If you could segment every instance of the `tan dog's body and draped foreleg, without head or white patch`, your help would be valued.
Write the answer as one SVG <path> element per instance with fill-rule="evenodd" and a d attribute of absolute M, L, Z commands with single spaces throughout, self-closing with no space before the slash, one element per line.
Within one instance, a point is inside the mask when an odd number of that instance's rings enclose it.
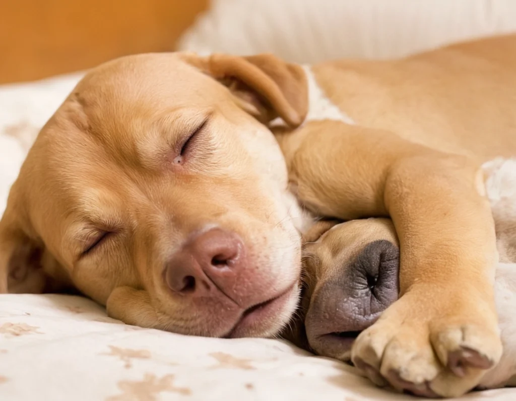
<path fill-rule="evenodd" d="M 402 296 L 352 349 L 375 382 L 457 396 L 484 371 L 472 366 L 458 378 L 441 367 L 449 355 L 475 349 L 491 364 L 501 356 L 496 237 L 478 176 L 482 162 L 516 154 L 514 54 L 509 36 L 315 66 L 356 125 L 314 121 L 279 133 L 289 181 L 310 210 L 394 222 Z"/>

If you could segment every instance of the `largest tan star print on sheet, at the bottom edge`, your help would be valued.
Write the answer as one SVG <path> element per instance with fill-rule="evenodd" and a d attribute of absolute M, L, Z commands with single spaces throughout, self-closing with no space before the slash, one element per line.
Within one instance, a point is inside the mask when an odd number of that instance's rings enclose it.
<path fill-rule="evenodd" d="M 158 378 L 156 375 L 146 373 L 141 381 L 123 380 L 118 382 L 121 394 L 106 398 L 106 401 L 156 401 L 157 396 L 163 392 L 190 395 L 191 390 L 184 387 L 176 387 L 173 384 L 174 375 L 165 375 Z"/>

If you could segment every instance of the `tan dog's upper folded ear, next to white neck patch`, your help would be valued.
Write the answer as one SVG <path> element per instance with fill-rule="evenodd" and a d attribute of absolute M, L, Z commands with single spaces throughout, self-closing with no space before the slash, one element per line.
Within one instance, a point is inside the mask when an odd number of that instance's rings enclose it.
<path fill-rule="evenodd" d="M 301 66 L 271 54 L 239 57 L 184 54 L 187 62 L 227 86 L 241 107 L 262 122 L 281 117 L 291 127 L 308 113 L 307 77 Z"/>

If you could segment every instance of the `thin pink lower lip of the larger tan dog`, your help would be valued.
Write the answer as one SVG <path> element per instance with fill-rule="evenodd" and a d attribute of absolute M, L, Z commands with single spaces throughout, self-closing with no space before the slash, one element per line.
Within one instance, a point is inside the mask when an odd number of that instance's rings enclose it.
<path fill-rule="evenodd" d="M 280 314 L 292 294 L 297 292 L 297 288 L 298 283 L 295 282 L 281 294 L 246 309 L 228 334 L 223 335 L 223 338 L 242 337 L 247 328 L 258 324 L 264 319 L 269 319 L 272 316 Z"/>

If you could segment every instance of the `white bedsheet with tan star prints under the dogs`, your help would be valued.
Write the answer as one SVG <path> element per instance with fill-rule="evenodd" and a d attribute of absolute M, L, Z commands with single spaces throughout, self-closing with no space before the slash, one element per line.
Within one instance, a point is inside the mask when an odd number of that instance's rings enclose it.
<path fill-rule="evenodd" d="M 30 141 L 79 75 L 0 88 L 0 212 Z M 286 342 L 220 340 L 124 325 L 94 302 L 0 295 L 0 400 L 412 399 Z M 461 399 L 516 399 L 516 389 Z"/>

